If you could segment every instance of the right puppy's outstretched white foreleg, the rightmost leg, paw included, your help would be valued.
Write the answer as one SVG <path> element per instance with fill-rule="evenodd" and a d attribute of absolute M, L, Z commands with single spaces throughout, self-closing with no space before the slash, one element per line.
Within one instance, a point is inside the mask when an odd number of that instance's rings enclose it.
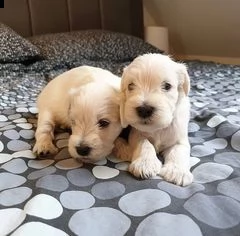
<path fill-rule="evenodd" d="M 165 163 L 160 175 L 176 185 L 186 186 L 192 183 L 193 175 L 190 172 L 190 145 L 176 144 L 163 153 Z"/>

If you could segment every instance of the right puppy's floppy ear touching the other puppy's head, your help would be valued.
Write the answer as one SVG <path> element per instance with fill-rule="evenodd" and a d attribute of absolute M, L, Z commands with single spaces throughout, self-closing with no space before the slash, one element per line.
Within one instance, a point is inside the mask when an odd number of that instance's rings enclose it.
<path fill-rule="evenodd" d="M 125 119 L 125 102 L 126 102 L 126 69 L 123 70 L 122 80 L 121 80 L 121 92 L 120 92 L 120 120 L 123 128 L 128 126 L 128 123 Z"/>

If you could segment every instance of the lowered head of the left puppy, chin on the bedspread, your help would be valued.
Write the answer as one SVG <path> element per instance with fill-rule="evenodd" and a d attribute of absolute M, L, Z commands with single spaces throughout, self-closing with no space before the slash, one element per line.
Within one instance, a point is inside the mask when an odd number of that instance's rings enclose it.
<path fill-rule="evenodd" d="M 71 92 L 69 117 L 71 156 L 83 162 L 102 159 L 111 153 L 122 129 L 119 90 L 103 81 L 81 86 Z"/>

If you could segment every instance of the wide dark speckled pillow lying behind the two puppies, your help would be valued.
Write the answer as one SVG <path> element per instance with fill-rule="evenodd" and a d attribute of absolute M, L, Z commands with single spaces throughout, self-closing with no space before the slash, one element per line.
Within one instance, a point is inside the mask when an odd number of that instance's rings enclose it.
<path fill-rule="evenodd" d="M 130 61 L 144 53 L 161 53 L 142 39 L 103 30 L 84 30 L 35 36 L 29 39 L 45 59 L 74 61 Z"/>

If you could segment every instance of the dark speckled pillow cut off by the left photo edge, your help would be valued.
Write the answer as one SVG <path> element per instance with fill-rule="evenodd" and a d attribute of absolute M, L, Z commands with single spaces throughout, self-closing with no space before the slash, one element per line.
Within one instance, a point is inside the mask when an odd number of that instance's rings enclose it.
<path fill-rule="evenodd" d="M 40 51 L 36 46 L 0 22 L 0 62 L 24 62 L 38 56 Z"/>

